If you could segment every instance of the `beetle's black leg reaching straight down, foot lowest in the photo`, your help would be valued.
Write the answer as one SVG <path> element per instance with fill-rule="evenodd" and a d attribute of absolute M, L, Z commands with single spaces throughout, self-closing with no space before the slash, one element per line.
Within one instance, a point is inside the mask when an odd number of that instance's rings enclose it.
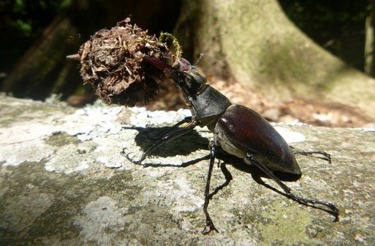
<path fill-rule="evenodd" d="M 210 196 L 210 182 L 211 182 L 211 174 L 212 169 L 214 168 L 214 162 L 215 162 L 215 155 L 217 151 L 217 146 L 215 144 L 215 141 L 210 141 L 210 165 L 208 168 L 208 174 L 207 174 L 207 180 L 206 180 L 206 187 L 204 189 L 204 205 L 203 205 L 203 212 L 206 215 L 206 224 L 202 231 L 202 234 L 208 234 L 211 231 L 219 232 L 218 229 L 216 229 L 214 222 L 212 222 L 212 219 L 210 215 L 208 214 L 207 208 L 208 204 L 210 203 L 210 199 L 212 196 Z"/>

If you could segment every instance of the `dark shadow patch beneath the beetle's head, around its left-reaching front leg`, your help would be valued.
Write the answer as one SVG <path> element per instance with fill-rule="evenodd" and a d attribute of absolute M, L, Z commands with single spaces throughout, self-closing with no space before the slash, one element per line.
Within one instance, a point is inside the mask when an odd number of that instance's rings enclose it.
<path fill-rule="evenodd" d="M 156 143 L 157 140 L 160 139 L 160 136 L 168 132 L 168 130 L 171 127 L 164 126 L 164 127 L 147 127 L 147 128 L 144 128 L 144 127 L 123 127 L 123 128 L 134 129 L 138 131 L 134 140 L 135 140 L 136 145 L 142 149 L 143 153 L 145 153 L 153 144 Z M 171 142 L 173 142 L 173 144 L 170 144 Z M 201 135 L 199 135 L 197 131 L 194 131 L 194 130 L 179 138 L 173 139 L 171 142 L 158 147 L 153 152 L 153 155 L 156 155 L 159 157 L 188 155 L 200 149 L 208 150 L 208 144 L 209 144 L 208 138 L 202 137 Z"/>

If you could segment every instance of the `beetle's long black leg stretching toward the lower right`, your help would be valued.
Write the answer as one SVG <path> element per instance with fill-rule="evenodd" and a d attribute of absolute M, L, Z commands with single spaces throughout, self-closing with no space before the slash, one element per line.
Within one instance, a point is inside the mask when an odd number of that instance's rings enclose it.
<path fill-rule="evenodd" d="M 291 189 L 286 186 L 285 184 L 283 184 L 279 178 L 276 177 L 276 175 L 271 171 L 269 170 L 266 166 L 264 166 L 260 161 L 258 161 L 253 154 L 249 154 L 247 153 L 246 154 L 246 158 L 248 160 L 250 160 L 252 163 L 254 163 L 260 170 L 262 170 L 268 177 L 270 177 L 271 179 L 273 179 L 283 190 L 284 192 L 286 193 L 286 195 L 297 201 L 298 203 L 301 203 L 301 204 L 304 204 L 304 205 L 307 205 L 307 204 L 320 204 L 320 205 L 323 205 L 323 206 L 326 206 L 327 208 L 330 209 L 330 213 L 332 215 L 335 216 L 335 219 L 334 221 L 338 221 L 339 220 L 339 210 L 336 208 L 335 205 L 333 205 L 332 203 L 329 203 L 329 202 L 323 202 L 323 201 L 317 201 L 317 200 L 311 200 L 311 199 L 306 199 L 306 198 L 302 198 L 302 197 L 299 197 L 299 196 L 296 196 L 295 194 L 293 194 L 291 192 Z"/>

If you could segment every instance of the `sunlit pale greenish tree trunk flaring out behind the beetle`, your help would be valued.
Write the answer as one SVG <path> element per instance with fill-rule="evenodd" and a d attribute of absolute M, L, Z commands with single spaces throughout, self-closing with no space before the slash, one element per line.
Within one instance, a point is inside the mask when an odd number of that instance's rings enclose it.
<path fill-rule="evenodd" d="M 192 57 L 205 54 L 205 73 L 265 101 L 298 99 L 374 121 L 375 81 L 316 45 L 276 0 L 186 0 L 181 12 L 176 35 Z"/>

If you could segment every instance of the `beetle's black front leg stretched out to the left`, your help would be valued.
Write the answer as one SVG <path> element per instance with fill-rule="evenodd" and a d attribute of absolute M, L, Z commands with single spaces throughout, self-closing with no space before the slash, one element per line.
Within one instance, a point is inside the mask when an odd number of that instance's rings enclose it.
<path fill-rule="evenodd" d="M 179 122 L 177 124 L 181 124 L 181 122 Z M 155 144 L 153 144 L 153 146 L 151 146 L 142 155 L 142 157 L 139 160 L 133 160 L 132 158 L 130 158 L 129 155 L 125 153 L 125 148 L 123 149 L 121 154 L 123 154 L 126 157 L 126 159 L 128 159 L 132 163 L 140 165 L 142 163 L 142 161 L 144 161 L 147 156 L 151 155 L 153 153 L 153 151 L 155 151 L 157 148 L 159 148 L 163 144 L 166 144 L 166 143 L 172 141 L 173 139 L 176 139 L 178 137 L 181 137 L 182 135 L 187 134 L 188 132 L 192 131 L 195 128 L 195 126 L 197 126 L 198 124 L 199 124 L 199 122 L 191 122 L 187 126 L 184 126 L 184 127 L 178 128 L 177 130 L 174 130 L 174 131 L 163 134 L 162 137 Z M 172 128 L 173 128 L 173 126 L 172 126 Z"/>

